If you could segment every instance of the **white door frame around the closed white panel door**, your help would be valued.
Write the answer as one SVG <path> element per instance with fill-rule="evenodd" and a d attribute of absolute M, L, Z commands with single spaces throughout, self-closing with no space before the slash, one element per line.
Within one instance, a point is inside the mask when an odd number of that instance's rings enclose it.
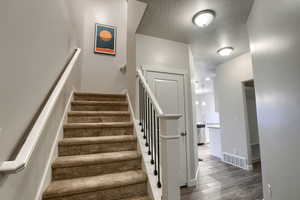
<path fill-rule="evenodd" d="M 189 123 L 192 119 L 190 116 L 190 109 L 189 109 L 189 98 L 188 98 L 188 84 L 189 84 L 189 73 L 188 70 L 185 69 L 174 69 L 171 67 L 162 67 L 162 66 L 149 66 L 149 65 L 142 65 L 141 70 L 143 73 L 146 72 L 159 72 L 159 73 L 166 73 L 166 74 L 177 74 L 177 75 L 183 75 L 183 88 L 184 88 L 184 110 L 185 110 L 185 131 L 188 133 L 186 135 L 185 140 L 185 146 L 186 146 L 186 185 L 194 185 L 195 178 L 192 178 L 190 176 L 191 174 L 191 152 L 189 146 L 193 146 L 193 144 L 190 144 L 190 139 L 193 138 L 193 129 L 191 124 Z M 145 75 L 145 74 L 144 74 Z M 190 133 L 190 134 L 189 134 Z"/>

